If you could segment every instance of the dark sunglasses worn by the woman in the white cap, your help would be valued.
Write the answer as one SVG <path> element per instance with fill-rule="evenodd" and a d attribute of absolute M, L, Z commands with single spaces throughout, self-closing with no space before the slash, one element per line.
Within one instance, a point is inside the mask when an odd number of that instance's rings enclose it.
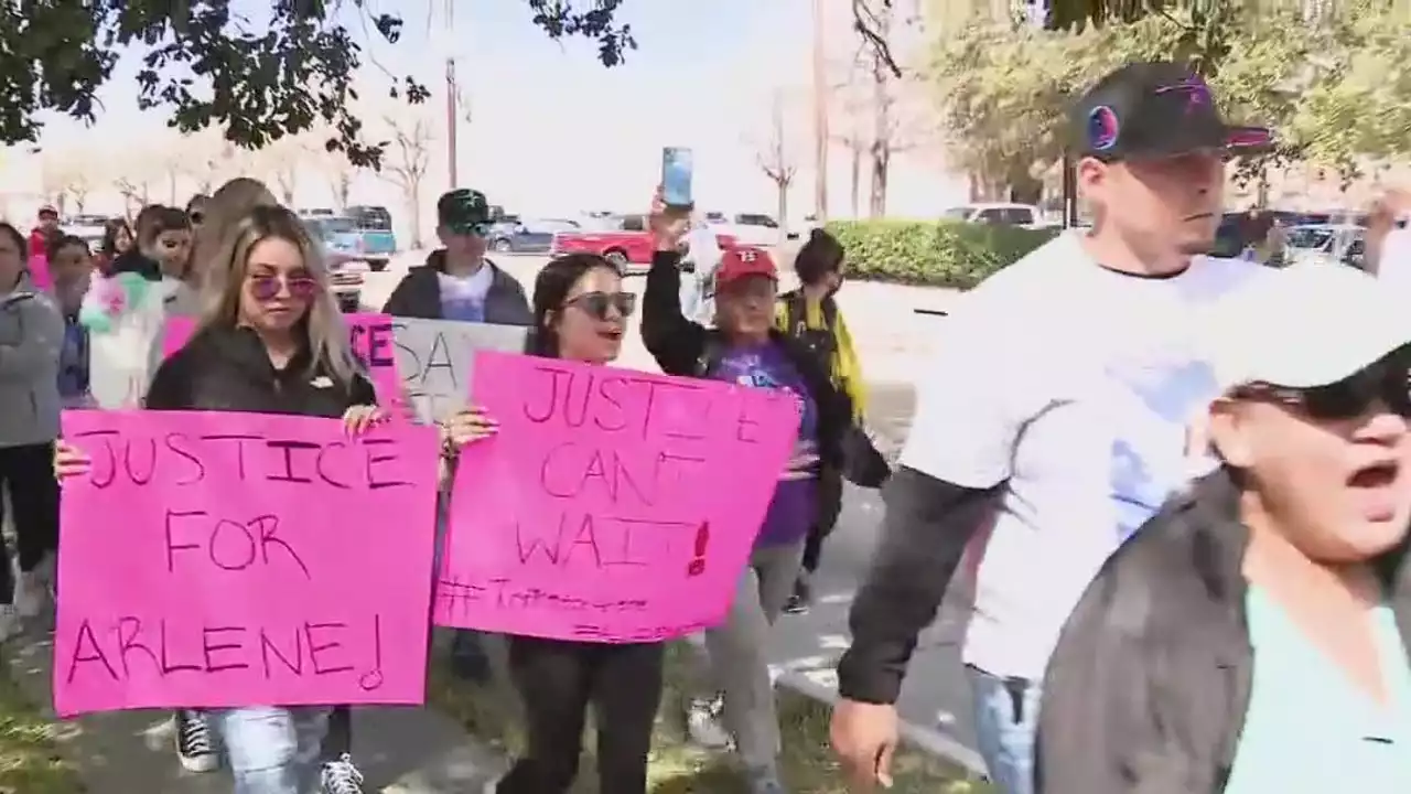
<path fill-rule="evenodd" d="M 1311 389 L 1256 383 L 1236 390 L 1236 397 L 1287 405 L 1315 421 L 1364 417 L 1379 403 L 1398 417 L 1411 418 L 1411 383 L 1404 356 L 1381 362 L 1350 376 Z"/>

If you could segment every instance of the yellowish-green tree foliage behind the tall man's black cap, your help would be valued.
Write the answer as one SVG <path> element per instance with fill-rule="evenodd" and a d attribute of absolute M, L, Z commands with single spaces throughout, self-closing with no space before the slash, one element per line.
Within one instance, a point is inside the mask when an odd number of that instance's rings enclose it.
<path fill-rule="evenodd" d="M 1054 0 L 1053 14 L 1065 30 L 975 20 L 933 45 L 957 165 L 1010 185 L 1006 175 L 1050 168 L 1072 95 L 1119 64 L 1173 58 L 1197 64 L 1232 120 L 1278 136 L 1240 164 L 1243 177 L 1307 160 L 1350 179 L 1369 160 L 1411 153 L 1411 18 L 1390 0 Z"/>

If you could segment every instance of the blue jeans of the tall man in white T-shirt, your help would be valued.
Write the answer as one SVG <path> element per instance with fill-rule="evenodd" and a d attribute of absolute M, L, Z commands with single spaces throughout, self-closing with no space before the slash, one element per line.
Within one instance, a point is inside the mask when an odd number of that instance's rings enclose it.
<path fill-rule="evenodd" d="M 1034 793 L 1038 684 L 967 667 L 975 699 L 975 733 L 989 780 L 1002 794 Z"/>

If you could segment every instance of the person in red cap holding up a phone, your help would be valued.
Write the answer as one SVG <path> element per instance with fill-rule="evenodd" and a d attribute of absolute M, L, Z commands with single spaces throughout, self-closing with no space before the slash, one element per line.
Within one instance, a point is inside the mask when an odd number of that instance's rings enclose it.
<path fill-rule="evenodd" d="M 721 698 L 698 699 L 693 736 L 718 742 L 717 715 L 734 736 L 751 794 L 783 794 L 779 715 L 765 658 L 769 629 L 799 576 L 809 528 L 825 499 L 820 473 L 842 465 L 842 435 L 852 424 L 848 397 L 801 342 L 775 325 L 779 274 L 768 251 L 732 247 L 715 271 L 715 328 L 682 314 L 680 242 L 687 219 L 660 192 L 652 208 L 656 253 L 646 274 L 642 340 L 662 372 L 793 391 L 803 405 L 794 458 L 779 485 L 725 622 L 706 632 L 711 678 Z"/>

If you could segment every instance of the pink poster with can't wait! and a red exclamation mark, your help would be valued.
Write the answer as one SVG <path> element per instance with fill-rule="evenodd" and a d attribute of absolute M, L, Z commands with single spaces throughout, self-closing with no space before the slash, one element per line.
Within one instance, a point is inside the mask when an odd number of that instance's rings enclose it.
<path fill-rule="evenodd" d="M 789 393 L 481 350 L 433 615 L 581 641 L 717 624 L 793 449 Z"/>

